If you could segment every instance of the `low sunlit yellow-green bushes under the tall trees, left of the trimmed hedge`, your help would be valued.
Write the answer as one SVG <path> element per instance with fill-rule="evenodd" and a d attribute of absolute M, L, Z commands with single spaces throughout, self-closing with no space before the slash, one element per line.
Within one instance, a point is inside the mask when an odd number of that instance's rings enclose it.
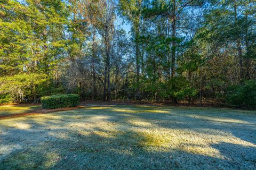
<path fill-rule="evenodd" d="M 46 74 L 30 73 L 0 77 L 0 104 L 38 103 L 40 97 L 65 93 Z"/>

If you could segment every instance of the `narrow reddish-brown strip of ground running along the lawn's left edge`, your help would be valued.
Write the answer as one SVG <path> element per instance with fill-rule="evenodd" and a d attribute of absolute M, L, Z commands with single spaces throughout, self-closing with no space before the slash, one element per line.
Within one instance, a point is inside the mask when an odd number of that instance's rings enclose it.
<path fill-rule="evenodd" d="M 46 114 L 46 113 L 52 113 L 52 112 L 60 112 L 60 111 L 70 111 L 77 108 L 83 108 L 85 106 L 76 106 L 76 107 L 67 107 L 67 108 L 55 108 L 55 109 L 35 109 L 33 111 L 28 111 L 25 113 L 18 113 L 18 114 L 12 114 L 12 115 L 3 115 L 0 116 L 0 120 L 6 119 L 6 118 L 12 118 L 12 117 L 21 117 L 21 116 L 30 116 L 30 115 L 38 115 L 38 114 Z"/>

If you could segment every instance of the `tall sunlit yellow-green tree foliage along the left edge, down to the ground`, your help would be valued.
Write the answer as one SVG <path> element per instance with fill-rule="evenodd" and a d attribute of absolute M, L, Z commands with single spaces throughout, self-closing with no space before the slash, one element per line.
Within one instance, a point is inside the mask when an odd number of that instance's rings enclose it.
<path fill-rule="evenodd" d="M 1 100 L 37 102 L 63 92 L 52 75 L 66 50 L 60 34 L 68 16 L 65 3 L 10 0 L 1 2 L 0 11 Z"/>

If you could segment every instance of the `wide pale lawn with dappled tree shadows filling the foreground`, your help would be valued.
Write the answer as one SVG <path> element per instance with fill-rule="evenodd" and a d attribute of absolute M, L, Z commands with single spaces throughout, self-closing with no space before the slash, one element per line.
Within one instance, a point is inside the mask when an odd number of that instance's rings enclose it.
<path fill-rule="evenodd" d="M 255 111 L 91 105 L 0 120 L 0 169 L 255 168 Z"/>

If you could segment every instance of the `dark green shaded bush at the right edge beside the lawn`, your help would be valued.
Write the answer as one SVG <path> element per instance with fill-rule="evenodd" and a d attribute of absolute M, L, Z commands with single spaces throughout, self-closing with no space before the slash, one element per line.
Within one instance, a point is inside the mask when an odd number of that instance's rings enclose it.
<path fill-rule="evenodd" d="M 235 107 L 256 107 L 256 81 L 245 81 L 242 85 L 229 86 L 227 103 Z"/>

